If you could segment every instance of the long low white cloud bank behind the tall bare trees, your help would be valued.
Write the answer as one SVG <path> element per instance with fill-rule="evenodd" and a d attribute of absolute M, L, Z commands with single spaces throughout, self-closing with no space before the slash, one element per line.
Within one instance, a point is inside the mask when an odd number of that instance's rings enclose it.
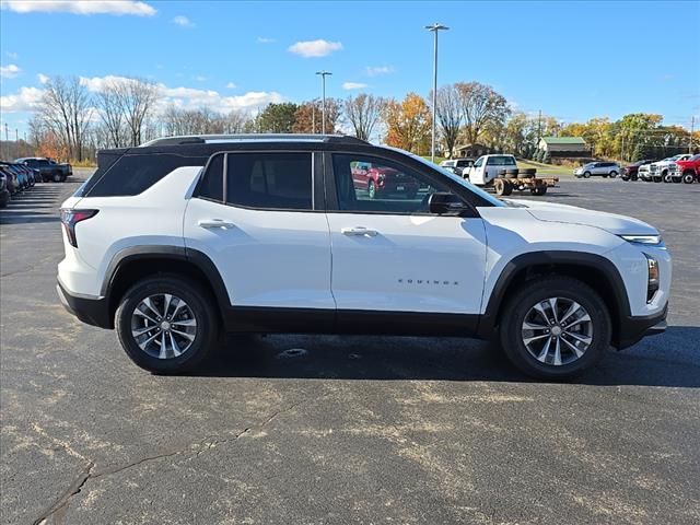
<path fill-rule="evenodd" d="M 92 92 L 104 90 L 114 81 L 125 80 L 125 77 L 81 77 L 80 82 Z M 243 95 L 224 96 L 213 90 L 199 90 L 196 88 L 170 88 L 163 83 L 155 84 L 159 90 L 158 106 L 164 108 L 174 105 L 182 109 L 199 109 L 208 107 L 213 110 L 228 113 L 232 109 L 250 112 L 269 103 L 280 103 L 284 97 L 277 92 L 249 91 Z"/>

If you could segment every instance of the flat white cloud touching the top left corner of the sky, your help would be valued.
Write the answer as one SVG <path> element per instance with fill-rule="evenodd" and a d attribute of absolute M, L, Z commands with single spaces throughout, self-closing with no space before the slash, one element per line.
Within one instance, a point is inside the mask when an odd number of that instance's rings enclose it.
<path fill-rule="evenodd" d="M 152 16 L 155 9 L 135 0 L 2 0 L 2 9 L 15 13 L 133 14 Z"/>

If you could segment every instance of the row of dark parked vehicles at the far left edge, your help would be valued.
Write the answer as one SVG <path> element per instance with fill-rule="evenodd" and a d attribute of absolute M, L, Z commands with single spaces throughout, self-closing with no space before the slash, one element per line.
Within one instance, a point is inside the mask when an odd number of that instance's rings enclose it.
<path fill-rule="evenodd" d="M 59 164 L 46 158 L 0 161 L 0 208 L 8 206 L 14 196 L 34 187 L 36 183 L 62 183 L 72 173 L 70 164 Z"/>

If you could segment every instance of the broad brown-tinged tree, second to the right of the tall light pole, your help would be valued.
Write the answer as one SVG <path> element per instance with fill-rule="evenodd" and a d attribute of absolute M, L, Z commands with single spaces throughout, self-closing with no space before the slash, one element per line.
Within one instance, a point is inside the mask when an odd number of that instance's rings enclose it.
<path fill-rule="evenodd" d="M 465 121 L 466 138 L 475 144 L 489 121 L 504 122 L 510 109 L 508 101 L 493 88 L 479 82 L 455 84 Z"/>

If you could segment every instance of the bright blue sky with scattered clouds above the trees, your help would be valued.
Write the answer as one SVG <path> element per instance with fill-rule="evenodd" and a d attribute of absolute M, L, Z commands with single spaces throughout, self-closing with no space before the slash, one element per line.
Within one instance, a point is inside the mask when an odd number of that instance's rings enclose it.
<path fill-rule="evenodd" d="M 328 96 L 425 95 L 423 26 L 441 22 L 451 30 L 440 35 L 440 84 L 488 83 L 517 109 L 564 121 L 649 112 L 689 126 L 691 115 L 700 124 L 698 20 L 697 1 L 2 0 L 0 121 L 22 133 L 40 75 L 54 74 L 92 90 L 108 75 L 144 77 L 171 102 L 223 110 L 319 96 L 319 69 L 334 73 Z"/>

